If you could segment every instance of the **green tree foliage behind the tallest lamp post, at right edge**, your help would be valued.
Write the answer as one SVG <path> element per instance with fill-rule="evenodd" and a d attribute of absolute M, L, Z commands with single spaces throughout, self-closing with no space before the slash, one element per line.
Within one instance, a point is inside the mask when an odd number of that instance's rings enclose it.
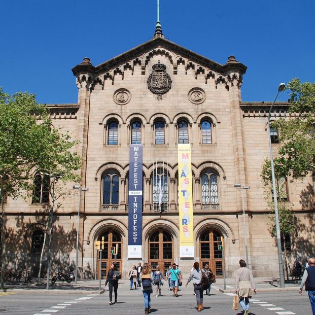
<path fill-rule="evenodd" d="M 315 171 L 315 82 L 301 83 L 294 78 L 288 83 L 290 119 L 272 122 L 279 133 L 278 156 L 274 158 L 276 178 L 293 180 Z M 270 161 L 265 161 L 262 177 L 270 183 Z"/>

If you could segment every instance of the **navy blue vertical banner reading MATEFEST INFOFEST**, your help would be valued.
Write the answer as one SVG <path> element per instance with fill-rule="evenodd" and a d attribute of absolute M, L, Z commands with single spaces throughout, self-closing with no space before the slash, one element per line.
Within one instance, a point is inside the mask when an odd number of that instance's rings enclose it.
<path fill-rule="evenodd" d="M 128 258 L 142 259 L 142 145 L 130 145 L 128 181 Z"/>

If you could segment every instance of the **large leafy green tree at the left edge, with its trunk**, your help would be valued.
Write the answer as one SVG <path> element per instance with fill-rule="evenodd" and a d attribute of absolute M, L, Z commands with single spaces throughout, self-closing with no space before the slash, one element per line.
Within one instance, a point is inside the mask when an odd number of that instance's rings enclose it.
<path fill-rule="evenodd" d="M 69 133 L 52 127 L 49 109 L 35 95 L 9 95 L 0 88 L 1 289 L 6 265 L 5 198 L 29 196 L 37 170 L 62 172 L 62 181 L 77 181 L 74 171 L 80 167 L 80 158 L 73 150 L 76 144 Z"/>

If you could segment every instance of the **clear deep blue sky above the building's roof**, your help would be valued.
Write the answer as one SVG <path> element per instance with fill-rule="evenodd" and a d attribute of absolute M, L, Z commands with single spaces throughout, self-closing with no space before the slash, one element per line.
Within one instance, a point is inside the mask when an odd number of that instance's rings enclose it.
<path fill-rule="evenodd" d="M 247 65 L 243 101 L 271 101 L 281 82 L 315 81 L 314 9 L 313 0 L 160 0 L 160 20 L 170 41 Z M 148 41 L 156 22 L 156 0 L 10 0 L 0 11 L 0 86 L 45 103 L 77 102 L 71 68 Z"/>

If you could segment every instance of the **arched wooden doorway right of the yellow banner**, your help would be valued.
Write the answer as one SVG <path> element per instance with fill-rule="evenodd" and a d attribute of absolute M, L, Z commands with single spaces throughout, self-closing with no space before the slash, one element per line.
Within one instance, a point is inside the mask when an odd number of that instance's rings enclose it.
<path fill-rule="evenodd" d="M 204 230 L 199 238 L 199 257 L 202 267 L 209 264 L 213 273 L 217 277 L 223 277 L 223 256 L 222 251 L 218 248 L 218 237 L 222 237 L 223 250 L 224 237 L 223 235 L 215 229 Z"/>

